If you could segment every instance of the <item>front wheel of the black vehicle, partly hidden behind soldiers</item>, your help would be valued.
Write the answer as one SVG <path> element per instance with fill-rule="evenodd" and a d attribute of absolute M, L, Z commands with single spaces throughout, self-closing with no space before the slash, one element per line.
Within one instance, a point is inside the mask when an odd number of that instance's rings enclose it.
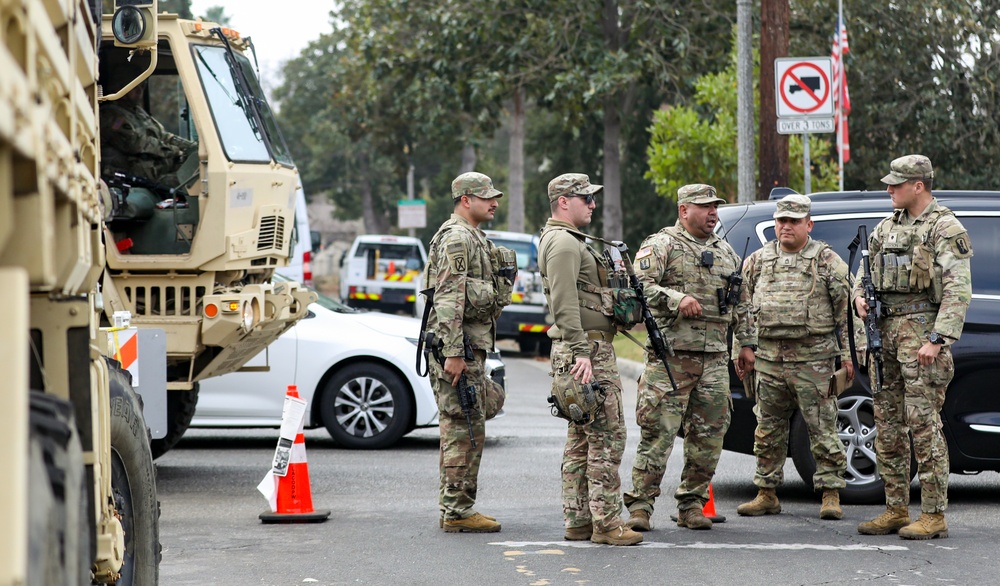
<path fill-rule="evenodd" d="M 868 395 L 842 395 L 837 399 L 837 436 L 847 452 L 847 487 L 841 500 L 854 504 L 885 502 L 885 484 L 875 460 L 875 409 Z M 809 449 L 809 432 L 801 413 L 791 425 L 792 462 L 805 483 L 812 487 L 816 460 Z M 911 467 L 911 472 L 915 470 Z"/>

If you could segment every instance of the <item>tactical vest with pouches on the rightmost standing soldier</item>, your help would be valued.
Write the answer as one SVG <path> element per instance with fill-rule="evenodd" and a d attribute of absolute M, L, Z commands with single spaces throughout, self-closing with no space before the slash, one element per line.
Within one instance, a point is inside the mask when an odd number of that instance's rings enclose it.
<path fill-rule="evenodd" d="M 941 303 L 943 275 L 941 267 L 933 265 L 930 289 L 917 291 L 910 289 L 910 271 L 913 270 L 913 249 L 924 244 L 934 250 L 932 242 L 934 229 L 941 217 L 955 214 L 944 206 L 927 215 L 925 221 L 916 224 L 902 224 L 900 218 L 906 210 L 893 212 L 891 220 L 881 222 L 876 230 L 882 243 L 882 249 L 872 259 L 872 281 L 879 293 L 924 293 L 931 303 Z"/>

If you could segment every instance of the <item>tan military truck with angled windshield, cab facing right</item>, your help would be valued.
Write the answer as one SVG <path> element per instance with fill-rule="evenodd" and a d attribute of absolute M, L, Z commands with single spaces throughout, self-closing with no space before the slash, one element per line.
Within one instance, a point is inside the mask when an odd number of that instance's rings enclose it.
<path fill-rule="evenodd" d="M 101 129 L 102 173 L 113 202 L 104 307 L 109 319 L 130 311 L 140 329 L 166 331 L 167 420 L 164 433 L 153 432 L 158 457 L 190 424 L 198 381 L 243 366 L 305 314 L 312 293 L 270 282 L 292 255 L 299 177 L 247 39 L 161 14 L 155 42 L 134 51 L 117 46 L 113 28 L 105 17 L 102 108 L 145 86 L 144 111 L 197 144 L 169 180 L 123 177 L 108 163 L 120 158 L 110 146 L 119 121 L 102 112 L 109 122 Z"/>

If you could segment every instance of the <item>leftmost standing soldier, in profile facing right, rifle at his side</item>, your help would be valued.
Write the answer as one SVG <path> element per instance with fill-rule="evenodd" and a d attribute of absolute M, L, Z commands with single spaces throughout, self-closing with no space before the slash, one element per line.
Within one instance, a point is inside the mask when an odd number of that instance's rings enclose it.
<path fill-rule="evenodd" d="M 437 398 L 441 433 L 441 527 L 445 532 L 500 531 L 495 518 L 473 510 L 476 504 L 479 462 L 486 440 L 486 389 L 493 385 L 485 374 L 486 354 L 496 341 L 496 318 L 510 303 L 510 283 L 499 276 L 499 251 L 479 224 L 493 219 L 503 193 L 482 173 L 463 173 L 451 184 L 455 211 L 431 239 L 424 284 L 434 289 L 427 329 L 438 345 L 433 348 L 444 364 L 429 360 L 429 375 Z M 474 357 L 465 359 L 464 340 Z M 465 373 L 477 391 L 472 412 L 475 447 L 462 413 L 456 387 Z"/>

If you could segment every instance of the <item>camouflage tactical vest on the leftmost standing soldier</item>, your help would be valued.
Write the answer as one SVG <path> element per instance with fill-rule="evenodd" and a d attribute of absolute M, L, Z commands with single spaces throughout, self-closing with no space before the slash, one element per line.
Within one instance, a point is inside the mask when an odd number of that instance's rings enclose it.
<path fill-rule="evenodd" d="M 424 287 L 437 289 L 438 263 L 448 262 L 447 253 L 441 250 L 441 241 L 452 230 L 465 230 L 470 232 L 473 240 L 478 242 L 478 234 L 471 232 L 468 227 L 458 222 L 446 222 L 438 230 L 434 238 L 431 239 L 430 249 L 433 254 L 433 261 L 427 263 L 424 274 Z M 466 320 L 489 323 L 500 316 L 500 311 L 510 304 L 510 294 L 512 285 L 506 278 L 497 274 L 500 263 L 498 251 L 495 246 L 473 245 L 469 247 L 468 267 L 465 279 L 465 308 L 464 317 Z M 436 322 L 436 320 L 434 320 Z"/>

